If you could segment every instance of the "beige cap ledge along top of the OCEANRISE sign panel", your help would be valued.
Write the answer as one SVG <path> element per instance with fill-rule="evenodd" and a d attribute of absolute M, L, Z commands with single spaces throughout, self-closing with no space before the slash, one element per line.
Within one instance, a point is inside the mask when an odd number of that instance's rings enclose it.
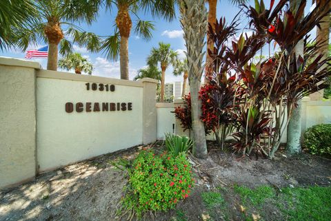
<path fill-rule="evenodd" d="M 39 72 L 37 72 L 37 77 L 53 78 L 53 79 L 69 80 L 69 81 L 84 81 L 84 82 L 92 82 L 92 83 L 110 83 L 114 85 L 124 85 L 124 86 L 132 86 L 132 87 L 143 87 L 143 83 L 139 81 L 121 80 L 117 78 L 106 78 L 103 76 L 92 76 L 86 74 L 74 74 L 70 72 L 56 72 L 51 70 L 39 70 Z"/>

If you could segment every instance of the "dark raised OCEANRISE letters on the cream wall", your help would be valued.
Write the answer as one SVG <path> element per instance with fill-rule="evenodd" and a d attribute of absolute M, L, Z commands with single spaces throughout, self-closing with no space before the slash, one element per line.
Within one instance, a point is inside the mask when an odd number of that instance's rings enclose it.
<path fill-rule="evenodd" d="M 132 103 L 66 103 L 66 112 L 118 112 L 131 111 Z"/>

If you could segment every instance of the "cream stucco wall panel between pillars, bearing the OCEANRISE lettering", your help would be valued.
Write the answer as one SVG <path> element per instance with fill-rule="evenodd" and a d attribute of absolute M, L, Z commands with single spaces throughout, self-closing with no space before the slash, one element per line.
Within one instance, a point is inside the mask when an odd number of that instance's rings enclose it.
<path fill-rule="evenodd" d="M 70 78 L 79 78 L 79 81 Z M 40 171 L 143 143 L 143 85 L 97 76 L 43 70 L 37 75 L 37 151 Z M 81 81 L 83 79 L 83 81 Z M 114 92 L 86 90 L 86 83 L 114 84 Z M 121 83 L 121 84 L 120 84 Z M 135 83 L 135 84 L 132 84 Z M 65 111 L 71 103 L 132 103 L 132 110 Z M 155 139 L 155 138 L 154 138 Z"/>

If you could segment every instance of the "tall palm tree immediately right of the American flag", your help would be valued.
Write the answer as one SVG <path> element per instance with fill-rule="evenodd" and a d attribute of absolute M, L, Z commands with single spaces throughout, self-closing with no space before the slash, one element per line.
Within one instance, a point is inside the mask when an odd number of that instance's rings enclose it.
<path fill-rule="evenodd" d="M 18 32 L 19 48 L 26 50 L 29 44 L 37 44 L 39 41 L 48 43 L 48 70 L 57 70 L 58 45 L 60 44 L 60 54 L 72 52 L 72 43 L 65 39 L 65 34 L 61 25 L 69 25 L 66 32 L 72 35 L 74 41 L 79 41 L 80 45 L 92 52 L 100 48 L 99 37 L 93 33 L 83 32 L 70 22 L 84 21 L 92 23 L 97 15 L 99 3 L 97 1 L 83 0 L 36 0 L 35 7 L 38 10 L 38 21 L 32 23 L 30 30 Z"/>

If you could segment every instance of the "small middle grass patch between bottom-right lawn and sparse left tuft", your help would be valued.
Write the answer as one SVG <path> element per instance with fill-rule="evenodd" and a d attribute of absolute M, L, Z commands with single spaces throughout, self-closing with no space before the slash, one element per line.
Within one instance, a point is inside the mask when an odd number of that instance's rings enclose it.
<path fill-rule="evenodd" d="M 257 189 L 250 189 L 248 187 L 234 185 L 234 191 L 241 196 L 243 204 L 248 204 L 248 200 L 252 202 L 254 206 L 261 206 L 266 199 L 273 198 L 276 193 L 272 187 L 261 186 Z"/>

